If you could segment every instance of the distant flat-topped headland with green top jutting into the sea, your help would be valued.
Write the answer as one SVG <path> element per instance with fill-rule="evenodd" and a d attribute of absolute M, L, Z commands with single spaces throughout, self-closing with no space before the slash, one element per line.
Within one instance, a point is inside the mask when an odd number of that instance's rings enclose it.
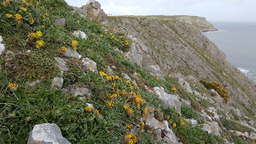
<path fill-rule="evenodd" d="M 164 16 L 164 15 L 153 15 L 153 16 L 121 16 L 121 17 L 133 17 L 133 18 L 149 18 L 153 20 L 172 20 L 172 21 L 183 21 L 191 26 L 194 26 L 200 32 L 204 31 L 216 31 L 217 28 L 206 20 L 205 17 L 198 16 L 187 16 L 187 15 L 174 15 L 174 16 Z"/>

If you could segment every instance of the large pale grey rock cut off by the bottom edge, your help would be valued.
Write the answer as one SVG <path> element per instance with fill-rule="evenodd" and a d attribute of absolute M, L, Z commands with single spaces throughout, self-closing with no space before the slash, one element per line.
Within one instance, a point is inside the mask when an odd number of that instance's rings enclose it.
<path fill-rule="evenodd" d="M 56 124 L 44 123 L 36 124 L 30 132 L 27 144 L 71 144 L 61 134 L 60 128 Z"/>

